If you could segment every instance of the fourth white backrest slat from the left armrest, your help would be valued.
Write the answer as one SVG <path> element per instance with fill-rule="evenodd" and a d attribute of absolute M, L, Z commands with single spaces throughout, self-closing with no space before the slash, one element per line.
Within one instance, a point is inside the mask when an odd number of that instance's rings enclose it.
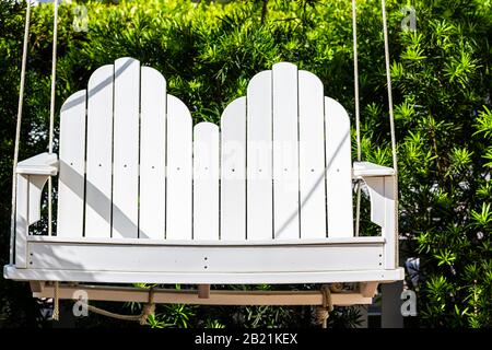
<path fill-rule="evenodd" d="M 141 69 L 139 237 L 165 236 L 166 81 Z"/>

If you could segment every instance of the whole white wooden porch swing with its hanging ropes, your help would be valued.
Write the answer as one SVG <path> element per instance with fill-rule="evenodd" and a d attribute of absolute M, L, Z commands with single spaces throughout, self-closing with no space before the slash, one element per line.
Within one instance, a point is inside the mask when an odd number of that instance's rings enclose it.
<path fill-rule="evenodd" d="M 132 58 L 93 72 L 60 112 L 52 153 L 58 3 L 55 1 L 49 153 L 17 164 L 31 4 L 14 154 L 11 261 L 4 277 L 31 281 L 34 296 L 149 302 L 148 290 L 80 283 L 186 283 L 199 292 L 153 289 L 151 303 L 371 303 L 398 267 L 397 159 L 385 1 L 383 28 L 394 167 L 361 162 L 356 16 L 353 4 L 358 162 L 350 120 L 320 80 L 289 62 L 253 77 L 220 127 L 192 126 L 156 70 Z M 289 156 L 285 156 L 285 155 Z M 285 161 L 288 159 L 288 161 Z M 30 235 L 40 198 L 58 175 L 57 232 Z M 371 196 L 380 236 L 353 230 L 352 180 Z M 340 291 L 335 283 L 359 283 Z M 323 292 L 210 291 L 210 284 L 327 283 Z M 325 319 L 326 324 L 326 319 Z"/>

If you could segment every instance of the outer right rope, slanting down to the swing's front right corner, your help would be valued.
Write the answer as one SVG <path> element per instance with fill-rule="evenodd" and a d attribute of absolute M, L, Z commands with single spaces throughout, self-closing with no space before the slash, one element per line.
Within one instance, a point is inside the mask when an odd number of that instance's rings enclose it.
<path fill-rule="evenodd" d="M 386 23 L 386 1 L 382 0 L 383 11 L 383 33 L 385 36 L 385 61 L 386 61 L 386 80 L 388 85 L 388 108 L 389 108 L 389 128 L 391 133 L 391 153 L 393 153 L 393 168 L 395 170 L 395 180 L 393 187 L 393 195 L 395 199 L 395 234 L 396 234 L 396 249 L 398 254 L 398 155 L 396 145 L 396 132 L 395 132 L 395 114 L 393 110 L 393 88 L 391 88 L 391 67 L 389 65 L 389 40 L 388 40 L 388 26 Z M 398 262 L 398 255 L 396 257 Z"/>

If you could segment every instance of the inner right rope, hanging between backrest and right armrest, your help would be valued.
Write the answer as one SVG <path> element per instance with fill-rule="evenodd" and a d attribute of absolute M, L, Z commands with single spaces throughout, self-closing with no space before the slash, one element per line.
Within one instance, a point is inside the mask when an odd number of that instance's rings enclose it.
<path fill-rule="evenodd" d="M 353 88 L 355 100 L 355 137 L 358 144 L 358 162 L 362 160 L 361 151 L 361 108 L 359 101 L 359 52 L 358 52 L 358 10 L 356 0 L 352 0 L 352 33 L 353 33 Z M 359 236 L 361 222 L 361 183 L 356 183 L 358 197 L 355 206 L 355 236 Z"/>

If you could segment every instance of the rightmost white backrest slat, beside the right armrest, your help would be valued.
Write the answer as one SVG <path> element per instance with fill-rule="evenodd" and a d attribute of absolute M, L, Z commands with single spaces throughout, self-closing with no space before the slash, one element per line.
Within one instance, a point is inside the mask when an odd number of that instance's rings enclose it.
<path fill-rule="evenodd" d="M 350 119 L 337 101 L 325 97 L 328 236 L 352 237 Z"/>

